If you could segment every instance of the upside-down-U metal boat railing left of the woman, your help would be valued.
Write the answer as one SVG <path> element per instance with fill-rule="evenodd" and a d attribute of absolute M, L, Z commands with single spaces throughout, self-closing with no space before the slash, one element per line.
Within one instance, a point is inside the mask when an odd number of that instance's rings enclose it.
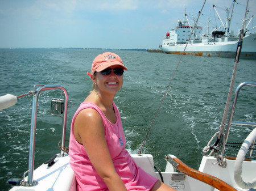
<path fill-rule="evenodd" d="M 36 89 L 36 87 L 38 87 Z M 30 129 L 30 151 L 29 151 L 29 158 L 28 158 L 28 171 L 25 173 L 28 173 L 28 179 L 27 182 L 23 182 L 25 186 L 34 186 L 38 184 L 37 182 L 33 181 L 33 174 L 34 174 L 34 159 L 35 159 L 35 132 L 36 132 L 36 113 L 38 110 L 38 97 L 40 92 L 46 91 L 46 90 L 61 90 L 62 93 L 64 93 L 64 100 L 62 101 L 63 107 L 61 108 L 61 114 L 62 114 L 62 125 L 63 125 L 63 131 L 62 131 L 62 137 L 61 137 L 61 148 L 65 148 L 65 133 L 66 133 L 66 121 L 67 121 L 67 111 L 68 111 L 68 92 L 65 90 L 65 88 L 61 85 L 48 85 L 48 86 L 42 86 L 42 85 L 35 85 L 34 86 L 34 92 L 33 92 L 33 103 L 32 103 L 32 115 L 31 115 L 31 129 Z M 61 95 L 62 96 L 62 95 Z M 60 100 L 60 99 L 59 99 Z M 57 104 L 57 102 L 56 102 Z M 57 107 L 56 107 L 57 109 Z M 64 156 L 64 151 L 60 151 L 60 156 Z M 23 180 L 24 181 L 24 180 Z"/>

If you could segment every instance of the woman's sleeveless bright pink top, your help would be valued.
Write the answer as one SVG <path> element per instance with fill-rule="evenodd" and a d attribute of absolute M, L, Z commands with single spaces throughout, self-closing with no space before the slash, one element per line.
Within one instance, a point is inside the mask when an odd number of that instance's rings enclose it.
<path fill-rule="evenodd" d="M 77 109 L 71 124 L 71 134 L 69 138 L 70 165 L 75 172 L 77 190 L 100 191 L 108 190 L 105 182 L 98 175 L 96 169 L 85 152 L 84 146 L 78 143 L 73 134 L 73 125 L 77 114 L 85 108 L 95 109 L 101 116 L 105 129 L 105 138 L 108 144 L 110 155 L 114 163 L 115 171 L 121 177 L 127 190 L 150 190 L 158 180 L 148 175 L 131 159 L 129 152 L 126 151 L 126 138 L 123 134 L 122 121 L 115 103 L 113 108 L 117 121 L 115 124 L 110 122 L 101 109 L 93 104 L 84 102 Z M 104 165 L 104 164 L 102 164 Z"/>

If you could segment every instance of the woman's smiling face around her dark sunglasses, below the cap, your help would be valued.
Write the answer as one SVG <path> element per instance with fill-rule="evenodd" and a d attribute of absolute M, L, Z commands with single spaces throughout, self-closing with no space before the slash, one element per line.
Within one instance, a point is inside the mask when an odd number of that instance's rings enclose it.
<path fill-rule="evenodd" d="M 108 69 L 112 69 L 110 74 L 104 75 L 100 72 L 97 72 L 96 75 L 93 75 L 93 82 L 96 82 L 96 90 L 104 92 L 112 92 L 115 94 L 118 92 L 123 85 L 123 75 L 117 75 L 114 73 L 113 69 L 117 69 L 118 66 L 110 66 Z M 120 67 L 119 67 L 120 68 Z"/>

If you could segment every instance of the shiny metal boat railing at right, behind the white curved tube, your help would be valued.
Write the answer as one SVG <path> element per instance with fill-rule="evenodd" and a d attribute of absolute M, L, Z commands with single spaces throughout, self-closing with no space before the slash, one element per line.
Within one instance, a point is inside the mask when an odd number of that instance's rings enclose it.
<path fill-rule="evenodd" d="M 245 126 L 254 126 L 254 127 L 256 127 L 256 123 L 255 122 L 232 121 L 233 120 L 233 116 L 234 116 L 234 112 L 235 112 L 235 109 L 236 109 L 238 94 L 239 94 L 239 92 L 240 92 L 240 90 L 241 90 L 241 88 L 243 86 L 254 86 L 254 87 L 256 87 L 256 83 L 253 83 L 253 82 L 243 82 L 236 89 L 236 93 L 234 95 L 234 101 L 233 101 L 233 105 L 232 105 L 232 109 L 231 109 L 231 113 L 230 113 L 230 117 L 229 117 L 229 122 L 228 122 L 228 126 L 227 126 L 226 133 L 225 133 L 225 144 L 223 145 L 222 153 L 224 153 L 225 145 L 226 145 L 226 143 L 228 141 L 228 136 L 229 136 L 229 131 L 230 131 L 231 125 L 245 125 Z M 249 151 L 249 155 L 248 155 L 249 159 L 251 158 L 251 155 L 253 153 L 253 149 L 252 149 L 253 147 L 254 147 L 254 143 L 251 144 L 251 147 L 250 147 L 250 151 Z"/>

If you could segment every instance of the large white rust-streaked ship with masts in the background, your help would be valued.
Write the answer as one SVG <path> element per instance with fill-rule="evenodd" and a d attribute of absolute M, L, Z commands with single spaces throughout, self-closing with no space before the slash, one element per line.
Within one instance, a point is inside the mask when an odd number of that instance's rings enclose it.
<path fill-rule="evenodd" d="M 233 13 L 234 3 L 235 1 L 233 1 L 230 9 L 225 9 L 228 15 L 228 18 L 225 19 L 226 24 L 223 24 L 220 19 L 223 29 L 221 30 L 221 27 L 218 27 L 209 32 L 210 19 L 208 19 L 206 33 L 203 33 L 201 26 L 191 26 L 189 24 L 184 10 L 183 22 L 178 20 L 177 26 L 166 33 L 162 45 L 159 46 L 160 49 L 168 54 L 234 58 L 239 41 L 239 34 L 234 35 L 234 32 L 230 30 L 230 23 L 232 21 L 232 14 L 230 12 Z M 217 12 L 214 5 L 213 8 Z M 251 19 L 246 19 L 248 22 L 245 26 L 249 26 L 252 19 L 253 16 Z M 240 58 L 256 60 L 256 32 L 250 32 L 251 29 L 245 28 Z M 191 36 L 190 39 L 189 36 Z M 185 48 L 186 45 L 187 47 Z"/>

